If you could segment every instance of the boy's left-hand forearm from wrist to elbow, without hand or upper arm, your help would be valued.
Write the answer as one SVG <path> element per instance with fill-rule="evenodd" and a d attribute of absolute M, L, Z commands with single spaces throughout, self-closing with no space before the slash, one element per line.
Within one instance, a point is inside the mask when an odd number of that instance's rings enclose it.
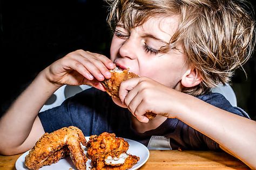
<path fill-rule="evenodd" d="M 57 88 L 43 72 L 36 77 L 0 119 L 0 149 L 19 146 L 28 138 L 39 110 Z"/>

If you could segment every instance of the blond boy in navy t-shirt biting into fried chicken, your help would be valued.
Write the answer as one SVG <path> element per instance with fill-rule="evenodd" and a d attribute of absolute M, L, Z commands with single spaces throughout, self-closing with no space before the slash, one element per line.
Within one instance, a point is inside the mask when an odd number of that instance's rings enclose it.
<path fill-rule="evenodd" d="M 74 125 L 85 136 L 114 132 L 147 146 L 164 136 L 173 150 L 221 147 L 247 162 L 237 147 L 245 139 L 231 140 L 241 126 L 232 131 L 229 119 L 248 115 L 210 90 L 250 58 L 252 17 L 235 1 L 108 2 L 111 59 L 78 50 L 42 70 L 1 118 L 1 153 L 24 152 L 44 132 Z M 116 104 L 101 84 L 115 65 L 139 75 L 121 84 Z M 38 114 L 63 84 L 93 88 Z M 157 116 L 149 121 L 146 112 Z"/>

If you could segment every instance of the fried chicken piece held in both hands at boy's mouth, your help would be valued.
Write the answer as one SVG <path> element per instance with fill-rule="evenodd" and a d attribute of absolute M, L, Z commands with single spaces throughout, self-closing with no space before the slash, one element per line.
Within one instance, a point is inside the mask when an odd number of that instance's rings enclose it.
<path fill-rule="evenodd" d="M 122 81 L 131 79 L 133 77 L 139 77 L 137 74 L 129 72 L 129 69 L 120 70 L 118 67 L 110 70 L 111 78 L 102 81 L 103 86 L 106 88 L 107 94 L 111 97 L 119 98 L 119 87 Z M 150 120 L 156 117 L 153 112 L 146 112 L 145 116 Z"/>

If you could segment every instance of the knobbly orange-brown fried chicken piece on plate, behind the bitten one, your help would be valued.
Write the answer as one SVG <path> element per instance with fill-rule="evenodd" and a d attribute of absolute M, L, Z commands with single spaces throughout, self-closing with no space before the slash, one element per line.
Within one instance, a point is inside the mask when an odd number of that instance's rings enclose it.
<path fill-rule="evenodd" d="M 109 153 L 113 150 L 116 152 L 126 152 L 129 148 L 129 143 L 123 138 L 116 137 L 114 133 L 103 132 L 97 135 L 92 135 L 86 143 L 87 157 L 92 158 L 94 154 Z"/>

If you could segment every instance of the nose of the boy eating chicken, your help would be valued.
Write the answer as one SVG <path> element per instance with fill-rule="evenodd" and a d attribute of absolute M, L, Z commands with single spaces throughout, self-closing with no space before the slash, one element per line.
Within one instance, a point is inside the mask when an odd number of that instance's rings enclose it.
<path fill-rule="evenodd" d="M 136 51 L 137 51 L 138 45 L 135 40 L 132 39 L 126 39 L 122 46 L 119 48 L 119 54 L 122 57 L 130 58 L 131 60 L 134 60 L 137 58 Z"/>

